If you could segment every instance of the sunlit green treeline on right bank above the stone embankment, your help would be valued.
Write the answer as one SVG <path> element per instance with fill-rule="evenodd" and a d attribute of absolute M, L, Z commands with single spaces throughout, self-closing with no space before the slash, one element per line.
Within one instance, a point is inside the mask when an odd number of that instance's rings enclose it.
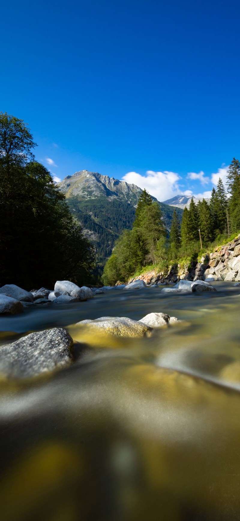
<path fill-rule="evenodd" d="M 102 281 L 114 284 L 127 281 L 146 264 L 157 264 L 159 270 L 179 259 L 197 255 L 211 243 L 224 240 L 240 230 L 240 163 L 233 158 L 229 166 L 228 196 L 221 179 L 212 189 L 210 203 L 205 199 L 197 204 L 192 198 L 189 209 L 184 208 L 180 225 L 176 209 L 172 216 L 170 237 L 166 239 L 161 211 L 156 210 L 151 196 L 144 190 L 132 230 L 125 230 L 117 240 L 113 254 L 105 265 Z"/>

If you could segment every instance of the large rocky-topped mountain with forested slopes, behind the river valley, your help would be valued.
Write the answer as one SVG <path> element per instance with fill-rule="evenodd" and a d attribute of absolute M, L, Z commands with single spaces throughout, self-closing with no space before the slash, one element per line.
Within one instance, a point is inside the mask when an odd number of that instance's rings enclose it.
<path fill-rule="evenodd" d="M 65 194 L 71 212 L 81 222 L 85 235 L 95 242 L 97 262 L 103 265 L 111 255 L 119 234 L 132 227 L 141 188 L 88 170 L 66 176 L 58 183 L 58 188 Z M 155 197 L 153 200 L 157 201 Z M 174 208 L 159 201 L 158 204 L 169 230 Z M 181 220 L 182 210 L 177 211 Z"/>

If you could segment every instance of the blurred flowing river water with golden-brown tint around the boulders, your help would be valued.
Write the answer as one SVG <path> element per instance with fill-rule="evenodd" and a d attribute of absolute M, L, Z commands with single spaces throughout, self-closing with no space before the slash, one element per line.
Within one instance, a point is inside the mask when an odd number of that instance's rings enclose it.
<path fill-rule="evenodd" d="M 2 343 L 55 326 L 76 341 L 70 368 L 0 382 L 3 521 L 240 519 L 240 287 L 215 286 L 0 318 Z M 141 339 L 75 326 L 151 312 L 182 322 Z"/>

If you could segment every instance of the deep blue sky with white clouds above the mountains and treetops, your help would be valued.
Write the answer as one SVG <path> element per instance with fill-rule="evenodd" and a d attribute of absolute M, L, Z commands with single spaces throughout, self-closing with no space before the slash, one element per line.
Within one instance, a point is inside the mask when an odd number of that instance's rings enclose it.
<path fill-rule="evenodd" d="M 238 0 L 4 3 L 0 108 L 60 179 L 207 194 L 240 158 L 239 16 Z"/>

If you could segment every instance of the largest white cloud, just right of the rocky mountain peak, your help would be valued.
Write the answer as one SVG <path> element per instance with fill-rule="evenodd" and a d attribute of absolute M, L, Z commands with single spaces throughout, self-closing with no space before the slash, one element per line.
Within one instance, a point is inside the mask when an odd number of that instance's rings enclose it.
<path fill-rule="evenodd" d="M 138 187 L 148 190 L 158 201 L 165 201 L 181 193 L 178 181 L 181 179 L 178 173 L 153 172 L 148 170 L 145 176 L 137 172 L 128 172 L 122 180 L 127 183 L 137 184 Z"/>

